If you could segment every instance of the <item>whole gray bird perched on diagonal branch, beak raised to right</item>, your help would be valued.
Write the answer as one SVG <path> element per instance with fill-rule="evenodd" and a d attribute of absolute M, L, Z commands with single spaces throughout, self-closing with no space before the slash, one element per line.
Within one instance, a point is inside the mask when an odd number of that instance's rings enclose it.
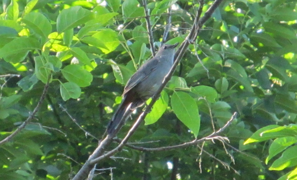
<path fill-rule="evenodd" d="M 121 120 L 126 121 L 134 109 L 142 106 L 156 93 L 173 65 L 174 48 L 177 45 L 165 44 L 160 47 L 156 55 L 147 60 L 128 80 L 122 102 L 108 124 L 108 134 L 118 131 Z"/>

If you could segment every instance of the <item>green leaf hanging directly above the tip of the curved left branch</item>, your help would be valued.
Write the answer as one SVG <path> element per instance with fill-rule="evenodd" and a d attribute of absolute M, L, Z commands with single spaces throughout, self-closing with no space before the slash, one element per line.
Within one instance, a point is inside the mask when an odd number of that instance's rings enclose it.
<path fill-rule="evenodd" d="M 34 57 L 34 61 L 36 77 L 43 83 L 47 83 L 48 77 L 51 75 L 51 71 L 53 71 L 53 64 L 46 62 L 41 56 Z"/>

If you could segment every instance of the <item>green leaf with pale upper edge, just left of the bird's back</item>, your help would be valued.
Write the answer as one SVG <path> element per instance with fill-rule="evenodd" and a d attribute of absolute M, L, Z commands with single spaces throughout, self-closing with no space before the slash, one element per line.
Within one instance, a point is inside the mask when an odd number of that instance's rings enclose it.
<path fill-rule="evenodd" d="M 127 67 L 116 64 L 113 60 L 108 61 L 113 69 L 113 74 L 121 84 L 126 84 L 133 72 Z"/>

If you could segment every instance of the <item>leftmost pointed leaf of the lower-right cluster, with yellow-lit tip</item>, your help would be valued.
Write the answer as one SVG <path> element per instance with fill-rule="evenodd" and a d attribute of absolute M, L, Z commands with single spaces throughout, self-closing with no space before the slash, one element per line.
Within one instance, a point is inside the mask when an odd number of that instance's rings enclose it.
<path fill-rule="evenodd" d="M 273 138 L 279 138 L 278 136 L 275 137 L 275 136 L 270 136 L 271 134 L 263 134 L 264 131 L 266 130 L 271 130 L 271 129 L 274 129 L 274 128 L 278 128 L 280 127 L 279 125 L 268 125 L 268 126 L 265 126 L 264 128 L 261 128 L 259 130 L 257 130 L 250 138 L 248 138 L 244 144 L 249 144 L 249 143 L 252 143 L 252 142 L 260 142 L 260 141 L 266 141 L 268 139 L 273 139 Z"/>

